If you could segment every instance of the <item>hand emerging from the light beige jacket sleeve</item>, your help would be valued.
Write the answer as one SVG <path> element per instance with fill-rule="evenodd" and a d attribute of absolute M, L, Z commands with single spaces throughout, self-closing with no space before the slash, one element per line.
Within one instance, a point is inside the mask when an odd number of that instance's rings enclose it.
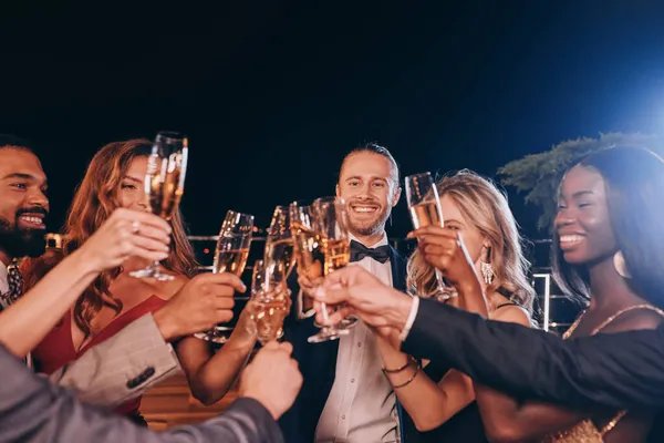
<path fill-rule="evenodd" d="M 198 275 L 155 312 L 155 322 L 166 341 L 210 329 L 232 319 L 232 296 L 246 290 L 232 274 Z"/>

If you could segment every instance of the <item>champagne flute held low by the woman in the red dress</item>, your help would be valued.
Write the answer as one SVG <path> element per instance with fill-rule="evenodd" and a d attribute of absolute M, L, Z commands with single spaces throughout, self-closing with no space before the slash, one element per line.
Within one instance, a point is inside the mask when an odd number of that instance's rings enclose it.
<path fill-rule="evenodd" d="M 251 279 L 250 319 L 247 329 L 261 344 L 283 337 L 283 320 L 290 309 L 283 260 L 257 260 Z"/>

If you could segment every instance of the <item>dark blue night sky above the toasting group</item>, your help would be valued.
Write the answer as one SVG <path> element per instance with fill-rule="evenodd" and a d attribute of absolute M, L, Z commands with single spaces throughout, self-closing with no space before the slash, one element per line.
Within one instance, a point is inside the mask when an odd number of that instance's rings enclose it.
<path fill-rule="evenodd" d="M 1 7 L 0 132 L 41 145 L 51 230 L 96 150 L 158 130 L 189 135 L 183 210 L 214 235 L 229 208 L 264 226 L 332 194 L 362 142 L 404 174 L 494 175 L 562 140 L 664 126 L 662 1 L 235 3 Z M 537 208 L 510 200 L 535 237 Z M 402 202 L 390 234 L 409 227 Z"/>

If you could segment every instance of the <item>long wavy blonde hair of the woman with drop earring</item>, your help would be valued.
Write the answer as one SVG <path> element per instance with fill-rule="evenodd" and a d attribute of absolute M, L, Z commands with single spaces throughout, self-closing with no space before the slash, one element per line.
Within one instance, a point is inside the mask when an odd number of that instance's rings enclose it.
<path fill-rule="evenodd" d="M 527 277 L 530 264 L 523 257 L 521 236 L 506 195 L 488 178 L 464 169 L 439 179 L 438 196 L 454 200 L 464 218 L 490 244 L 494 280 L 488 295 L 499 292 L 532 313 L 535 290 Z M 408 288 L 421 297 L 436 291 L 434 268 L 416 250 L 408 259 Z"/>

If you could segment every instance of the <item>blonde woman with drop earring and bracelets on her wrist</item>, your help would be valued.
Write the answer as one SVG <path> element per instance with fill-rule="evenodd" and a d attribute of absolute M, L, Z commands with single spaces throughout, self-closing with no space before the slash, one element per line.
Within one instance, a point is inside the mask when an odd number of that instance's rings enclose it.
<path fill-rule="evenodd" d="M 531 324 L 535 292 L 526 272 L 528 262 L 521 253 L 521 238 L 507 199 L 488 179 L 461 171 L 437 183 L 445 215 L 445 228 L 463 238 L 475 265 L 484 299 L 453 297 L 448 303 L 489 318 Z M 443 236 L 444 233 L 440 233 Z M 429 234 L 437 236 L 437 234 Z M 432 238 L 427 239 L 426 247 Z M 436 292 L 434 267 L 418 248 L 408 262 L 408 287 L 419 297 Z M 375 331 L 390 380 L 400 402 L 413 420 L 416 432 L 408 441 L 487 441 L 473 381 L 445 362 L 415 361 L 398 351 L 397 340 L 387 329 Z"/>

